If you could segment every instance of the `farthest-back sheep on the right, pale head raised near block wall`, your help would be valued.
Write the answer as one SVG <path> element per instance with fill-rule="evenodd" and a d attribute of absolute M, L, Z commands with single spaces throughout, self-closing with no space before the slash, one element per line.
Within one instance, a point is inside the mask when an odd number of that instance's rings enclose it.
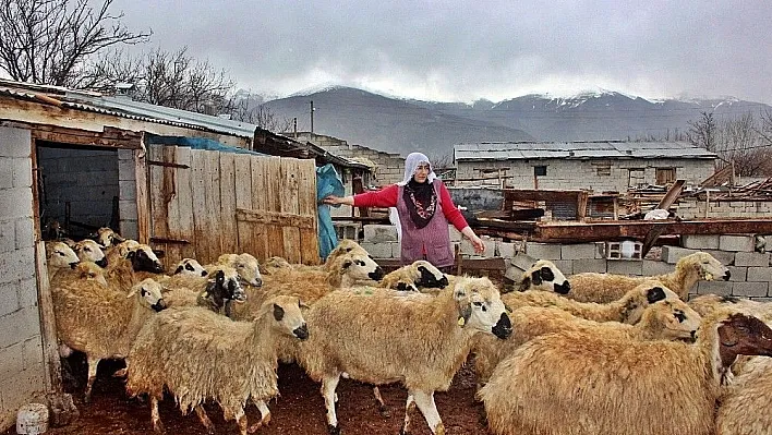
<path fill-rule="evenodd" d="M 627 277 L 612 274 L 577 274 L 571 276 L 571 291 L 566 297 L 580 302 L 611 302 L 622 298 L 626 291 L 644 279 L 656 279 L 675 291 L 683 300 L 689 297 L 689 289 L 704 279 L 721 277 L 728 280 L 729 269 L 705 252 L 689 254 L 676 263 L 675 270 L 654 277 Z"/>

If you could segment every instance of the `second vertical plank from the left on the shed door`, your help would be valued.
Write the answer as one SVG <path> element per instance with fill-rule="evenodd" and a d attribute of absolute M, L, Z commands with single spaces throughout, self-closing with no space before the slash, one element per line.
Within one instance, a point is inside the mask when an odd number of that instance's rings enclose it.
<path fill-rule="evenodd" d="M 176 146 L 174 161 L 188 166 L 189 169 L 177 169 L 177 195 L 169 203 L 169 215 L 173 219 L 169 220 L 169 235 L 177 240 L 188 240 L 191 244 L 179 246 L 179 259 L 190 257 L 196 258 L 195 253 L 195 228 L 193 222 L 193 191 L 191 189 L 191 148 Z M 197 259 L 197 258 L 196 258 Z"/>

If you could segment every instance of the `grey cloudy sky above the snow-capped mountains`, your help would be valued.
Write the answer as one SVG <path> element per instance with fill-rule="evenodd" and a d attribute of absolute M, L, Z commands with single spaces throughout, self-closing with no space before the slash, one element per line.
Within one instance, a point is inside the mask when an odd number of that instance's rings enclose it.
<path fill-rule="evenodd" d="M 764 0 L 114 0 L 150 46 L 240 87 L 346 85 L 442 101 L 605 88 L 772 102 Z M 148 46 L 149 47 L 149 46 Z"/>

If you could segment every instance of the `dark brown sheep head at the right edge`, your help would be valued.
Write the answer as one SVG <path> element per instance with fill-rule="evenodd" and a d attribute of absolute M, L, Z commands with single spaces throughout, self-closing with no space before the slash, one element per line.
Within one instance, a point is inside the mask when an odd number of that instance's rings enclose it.
<path fill-rule="evenodd" d="M 724 367 L 737 355 L 772 357 L 772 329 L 751 315 L 734 312 L 719 323 L 719 354 Z"/>

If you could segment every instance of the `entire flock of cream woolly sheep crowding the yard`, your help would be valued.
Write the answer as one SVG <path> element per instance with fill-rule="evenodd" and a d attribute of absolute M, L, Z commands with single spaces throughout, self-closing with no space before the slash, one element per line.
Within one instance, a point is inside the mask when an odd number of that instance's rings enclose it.
<path fill-rule="evenodd" d="M 341 432 L 341 377 L 408 392 L 402 434 L 418 408 L 445 434 L 434 391 L 473 363 L 496 435 L 770 434 L 772 305 L 702 295 L 698 280 L 728 279 L 707 253 L 671 274 L 566 279 L 539 261 L 519 291 L 487 278 L 446 276 L 427 262 L 388 275 L 343 240 L 322 266 L 250 254 L 216 264 L 185 258 L 164 275 L 149 246 L 101 229 L 96 240 L 47 242 L 60 352 L 84 352 L 85 399 L 101 359 L 125 359 L 132 396 L 173 396 L 210 432 L 216 401 L 239 432 L 270 421 L 278 362 L 321 383 L 330 434 Z M 472 358 L 470 359 L 470 355 Z M 253 402 L 261 420 L 249 424 Z"/>

